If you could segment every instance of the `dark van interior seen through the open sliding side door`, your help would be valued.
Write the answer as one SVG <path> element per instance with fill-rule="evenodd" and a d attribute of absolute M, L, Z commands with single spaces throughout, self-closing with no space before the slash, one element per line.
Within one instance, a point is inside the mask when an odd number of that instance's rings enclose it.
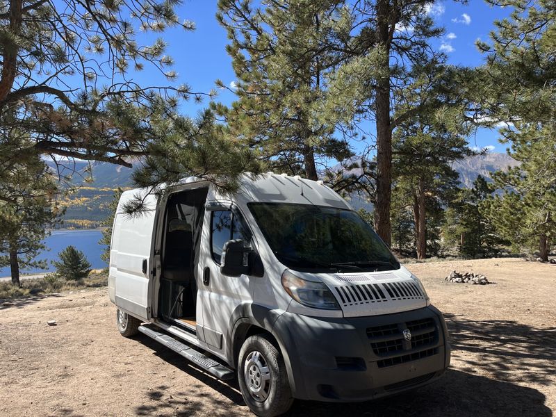
<path fill-rule="evenodd" d="M 166 204 L 160 291 L 160 313 L 164 320 L 195 329 L 197 284 L 195 268 L 208 188 L 170 195 Z"/>

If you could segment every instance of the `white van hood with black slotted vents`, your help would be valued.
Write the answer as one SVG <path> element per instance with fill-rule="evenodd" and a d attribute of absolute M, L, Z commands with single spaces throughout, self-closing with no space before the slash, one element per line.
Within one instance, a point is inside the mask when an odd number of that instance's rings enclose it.
<path fill-rule="evenodd" d="M 381 272 L 302 275 L 327 284 L 344 317 L 400 313 L 430 304 L 423 285 L 403 266 L 399 270 Z"/>

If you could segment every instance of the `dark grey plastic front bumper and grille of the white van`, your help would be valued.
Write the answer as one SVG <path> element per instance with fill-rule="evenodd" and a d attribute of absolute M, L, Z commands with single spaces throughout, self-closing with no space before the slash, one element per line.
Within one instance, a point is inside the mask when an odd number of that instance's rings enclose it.
<path fill-rule="evenodd" d="M 371 400 L 432 382 L 450 364 L 446 325 L 434 306 L 359 318 L 284 313 L 273 333 L 286 351 L 293 396 L 302 400 Z"/>

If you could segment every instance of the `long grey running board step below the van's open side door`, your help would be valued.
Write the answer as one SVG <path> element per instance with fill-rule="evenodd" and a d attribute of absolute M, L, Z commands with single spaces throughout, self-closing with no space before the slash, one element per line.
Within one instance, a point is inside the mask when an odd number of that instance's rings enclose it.
<path fill-rule="evenodd" d="M 201 352 L 177 341 L 172 336 L 158 332 L 158 327 L 152 325 L 140 325 L 139 332 L 146 334 L 149 337 L 154 338 L 155 341 L 162 343 L 163 345 L 170 347 L 174 352 L 181 354 L 182 357 L 188 359 L 189 361 L 195 363 L 195 365 L 202 368 L 207 373 L 226 381 L 227 379 L 234 378 L 234 371 L 226 366 L 214 361 L 213 359 L 207 357 Z"/>

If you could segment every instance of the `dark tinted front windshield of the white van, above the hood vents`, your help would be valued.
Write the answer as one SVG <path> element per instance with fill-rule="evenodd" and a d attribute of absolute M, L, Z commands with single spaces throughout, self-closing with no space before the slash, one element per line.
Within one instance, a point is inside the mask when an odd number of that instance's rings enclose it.
<path fill-rule="evenodd" d="M 400 268 L 388 247 L 354 211 L 310 204 L 248 206 L 270 249 L 288 268 L 307 272 Z"/>

